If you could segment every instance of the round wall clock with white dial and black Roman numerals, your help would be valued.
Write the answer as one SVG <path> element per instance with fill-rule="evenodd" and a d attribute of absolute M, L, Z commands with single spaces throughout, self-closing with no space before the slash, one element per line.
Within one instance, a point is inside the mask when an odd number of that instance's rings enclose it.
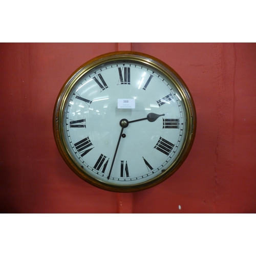
<path fill-rule="evenodd" d="M 110 191 L 150 188 L 174 174 L 196 132 L 181 77 L 138 52 L 96 57 L 76 70 L 55 104 L 54 138 L 84 181 Z"/>

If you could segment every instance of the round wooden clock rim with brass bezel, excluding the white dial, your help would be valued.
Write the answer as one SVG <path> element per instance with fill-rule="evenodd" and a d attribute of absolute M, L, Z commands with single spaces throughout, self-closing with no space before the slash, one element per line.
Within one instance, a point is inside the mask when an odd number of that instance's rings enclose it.
<path fill-rule="evenodd" d="M 170 78 L 170 72 L 172 73 L 172 78 L 175 80 L 175 83 L 179 84 L 179 87 L 182 89 L 182 95 L 186 98 L 186 109 L 189 113 L 187 115 L 187 123 L 189 127 L 189 131 L 187 134 L 186 140 L 188 142 L 185 143 L 185 148 L 182 149 L 182 155 L 178 158 L 178 161 L 175 163 L 175 168 L 172 170 L 172 172 L 168 172 L 169 168 L 165 170 L 161 174 L 160 177 L 156 177 L 151 181 L 147 181 L 144 183 L 140 183 L 138 185 L 125 185 L 125 186 L 118 186 L 118 185 L 110 185 L 105 184 L 103 182 L 99 182 L 97 179 L 92 178 L 88 175 L 86 175 L 84 172 L 81 172 L 76 166 L 76 164 L 71 161 L 69 154 L 67 153 L 67 150 L 65 146 L 63 146 L 63 142 L 61 139 L 61 128 L 59 127 L 59 119 L 60 115 L 63 114 L 61 110 L 61 102 L 65 95 L 67 95 L 67 90 L 70 89 L 70 84 L 75 83 L 74 80 L 78 80 L 83 74 L 90 71 L 94 67 L 100 65 L 100 63 L 105 63 L 106 59 L 109 59 L 110 61 L 114 59 L 119 60 L 120 58 L 124 58 L 125 60 L 139 60 L 142 62 L 148 64 L 151 63 L 151 65 L 159 70 L 159 65 L 161 67 L 160 72 L 163 72 L 168 78 Z M 86 69 L 86 70 L 84 70 Z M 77 77 L 78 76 L 78 77 Z M 179 88 L 178 88 L 179 89 Z M 71 89 L 70 89 L 71 90 Z M 160 59 L 153 57 L 151 55 L 147 55 L 140 52 L 134 52 L 134 51 L 120 51 L 120 52 L 111 52 L 107 54 L 103 54 L 100 56 L 97 56 L 83 65 L 81 65 L 78 69 L 76 69 L 66 80 L 66 82 L 63 84 L 58 96 L 57 100 L 55 102 L 54 106 L 54 112 L 53 112 L 53 134 L 54 134 L 54 140 L 56 143 L 56 146 L 58 148 L 58 151 L 62 157 L 62 159 L 66 162 L 66 164 L 70 167 L 70 169 L 82 180 L 88 182 L 89 184 L 99 187 L 104 190 L 108 191 L 114 191 L 119 193 L 131 193 L 135 191 L 141 191 L 144 189 L 151 188 L 153 186 L 156 186 L 160 184 L 161 182 L 168 179 L 170 176 L 172 176 L 179 167 L 183 164 L 185 159 L 187 158 L 191 147 L 193 146 L 195 135 L 196 135 L 196 126 L 197 126 L 197 115 L 196 115 L 196 108 L 193 98 L 191 97 L 191 94 L 189 92 L 188 87 L 186 86 L 184 80 L 180 77 L 180 75 L 171 67 L 169 67 L 165 62 L 161 61 Z"/>

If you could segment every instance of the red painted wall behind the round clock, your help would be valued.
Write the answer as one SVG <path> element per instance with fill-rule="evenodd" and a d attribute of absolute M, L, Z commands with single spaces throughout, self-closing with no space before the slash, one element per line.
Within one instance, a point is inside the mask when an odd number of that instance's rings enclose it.
<path fill-rule="evenodd" d="M 117 50 L 153 55 L 186 82 L 197 134 L 181 168 L 153 188 L 118 194 L 65 164 L 52 114 L 69 75 Z M 0 44 L 0 212 L 256 212 L 256 44 Z"/>

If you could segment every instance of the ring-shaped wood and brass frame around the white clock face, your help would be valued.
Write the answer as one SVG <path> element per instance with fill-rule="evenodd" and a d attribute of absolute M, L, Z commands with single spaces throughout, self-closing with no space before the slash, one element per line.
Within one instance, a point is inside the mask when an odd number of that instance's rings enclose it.
<path fill-rule="evenodd" d="M 182 99 L 185 103 L 185 109 L 186 109 L 186 119 L 187 119 L 187 129 L 186 129 L 186 135 L 184 144 L 182 146 L 182 149 L 176 157 L 176 160 L 159 176 L 153 178 L 152 180 L 142 182 L 140 184 L 135 185 L 113 185 L 109 183 L 102 182 L 100 180 L 97 180 L 96 178 L 91 177 L 90 175 L 87 175 L 83 172 L 83 170 L 80 168 L 80 165 L 76 164 L 76 161 L 73 159 L 72 155 L 69 153 L 69 150 L 66 146 L 66 142 L 63 136 L 63 130 L 62 130 L 62 119 L 63 119 L 63 109 L 67 100 L 67 97 L 74 87 L 76 81 L 80 79 L 81 76 L 86 74 L 87 72 L 90 72 L 95 67 L 102 65 L 106 62 L 110 61 L 119 61 L 119 60 L 130 60 L 130 61 L 138 61 L 142 62 L 145 65 L 151 66 L 155 69 L 157 69 L 160 73 L 162 73 L 164 76 L 166 76 L 168 79 L 172 80 L 175 84 L 176 88 L 180 92 Z M 109 191 L 115 191 L 115 192 L 134 192 L 134 191 L 140 191 L 146 188 L 153 187 L 167 178 L 169 178 L 171 175 L 173 175 L 176 170 L 181 166 L 181 164 L 186 159 L 191 146 L 193 145 L 195 134 L 196 134 L 196 110 L 195 110 L 195 104 L 193 101 L 193 98 L 191 97 L 188 88 L 185 84 L 185 82 L 182 80 L 182 78 L 166 63 L 163 61 L 152 57 L 147 54 L 142 54 L 138 52 L 112 52 L 104 55 L 100 55 L 96 58 L 93 58 L 86 63 L 84 63 L 81 67 L 79 67 L 65 82 L 63 87 L 61 88 L 59 95 L 57 97 L 54 113 L 53 113 L 53 132 L 54 132 L 54 139 L 58 148 L 58 151 L 60 152 L 63 160 L 68 164 L 68 166 L 73 170 L 73 172 L 83 179 L 84 181 L 87 181 L 88 183 L 105 189 Z"/>

